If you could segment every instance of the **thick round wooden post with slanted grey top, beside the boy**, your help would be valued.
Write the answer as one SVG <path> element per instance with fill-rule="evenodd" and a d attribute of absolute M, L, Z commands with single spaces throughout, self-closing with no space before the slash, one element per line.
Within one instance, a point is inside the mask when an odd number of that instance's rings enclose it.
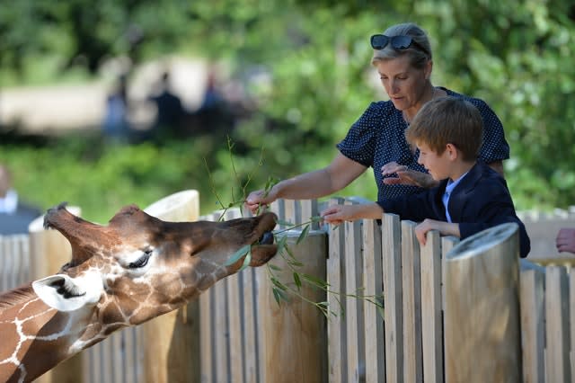
<path fill-rule="evenodd" d="M 446 274 L 446 382 L 521 381 L 517 224 L 466 238 Z"/>

